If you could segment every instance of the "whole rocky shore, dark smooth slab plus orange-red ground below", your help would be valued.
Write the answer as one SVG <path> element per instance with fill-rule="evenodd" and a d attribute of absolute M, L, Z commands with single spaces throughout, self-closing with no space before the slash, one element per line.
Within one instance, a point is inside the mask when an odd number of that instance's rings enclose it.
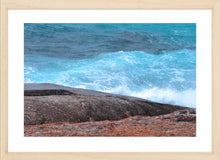
<path fill-rule="evenodd" d="M 24 84 L 25 136 L 195 136 L 195 109 L 55 84 Z"/>

